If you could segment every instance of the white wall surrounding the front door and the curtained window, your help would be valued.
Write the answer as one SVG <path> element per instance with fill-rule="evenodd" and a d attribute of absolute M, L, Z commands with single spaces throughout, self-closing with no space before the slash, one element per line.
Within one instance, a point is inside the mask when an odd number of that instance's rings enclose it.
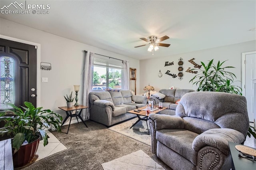
<path fill-rule="evenodd" d="M 117 59 L 128 60 L 130 67 L 137 68 L 137 78 L 140 79 L 139 60 L 112 53 L 100 49 L 100 47 L 92 47 L 80 42 L 68 40 L 2 18 L 0 18 L 0 35 L 41 44 L 41 61 L 51 63 L 52 70 L 40 70 L 41 77 L 48 77 L 48 83 L 40 83 L 40 106 L 44 109 L 51 109 L 56 113 L 60 113 L 62 116 L 65 116 L 66 113 L 58 109 L 58 107 L 66 106 L 63 96 L 70 94 L 71 91 L 74 93 L 73 85 L 82 83 L 82 76 L 80 74 L 85 55 L 84 50 L 90 50 L 91 52 Z M 137 82 L 137 89 L 139 86 L 140 83 Z M 82 94 L 79 92 L 78 98 L 78 103 L 80 103 Z"/>

